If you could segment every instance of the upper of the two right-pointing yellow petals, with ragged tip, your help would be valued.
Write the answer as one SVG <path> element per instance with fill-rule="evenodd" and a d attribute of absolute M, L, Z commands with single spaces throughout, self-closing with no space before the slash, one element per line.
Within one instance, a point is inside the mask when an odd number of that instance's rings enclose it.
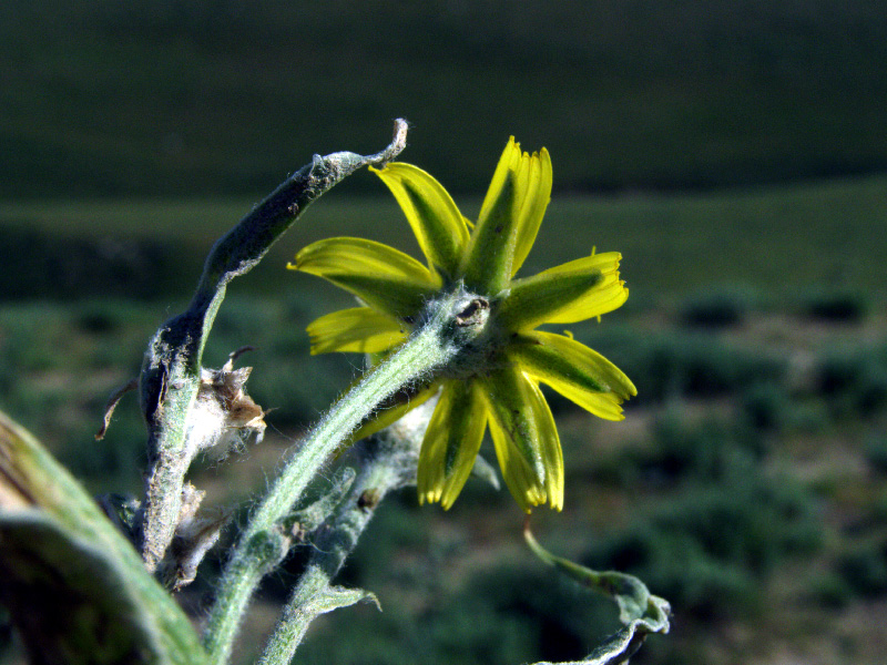
<path fill-rule="evenodd" d="M 616 252 L 587 256 L 514 279 L 502 303 L 499 318 L 511 330 L 527 330 L 540 324 L 572 324 L 621 306 L 629 290 L 619 279 Z"/>

